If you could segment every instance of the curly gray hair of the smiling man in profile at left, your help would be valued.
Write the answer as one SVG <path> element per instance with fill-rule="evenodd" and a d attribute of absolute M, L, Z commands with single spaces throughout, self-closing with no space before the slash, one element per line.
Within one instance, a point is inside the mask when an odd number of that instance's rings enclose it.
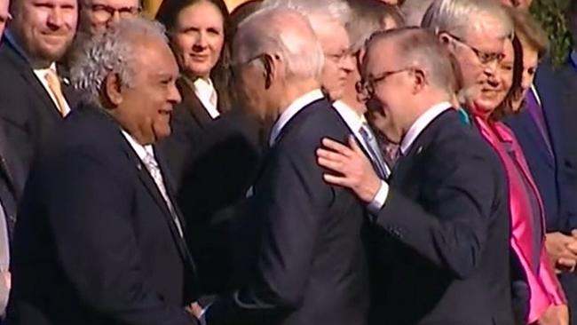
<path fill-rule="evenodd" d="M 165 29 L 143 17 L 120 20 L 106 32 L 85 40 L 72 56 L 70 80 L 85 100 L 100 106 L 100 94 L 107 75 L 118 74 L 125 86 L 132 86 L 135 71 L 135 36 L 151 36 L 168 43 Z"/>

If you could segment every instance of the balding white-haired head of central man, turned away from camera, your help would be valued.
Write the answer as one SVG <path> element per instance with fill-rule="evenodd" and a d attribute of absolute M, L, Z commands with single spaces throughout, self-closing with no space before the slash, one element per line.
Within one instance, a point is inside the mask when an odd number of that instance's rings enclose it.
<path fill-rule="evenodd" d="M 233 40 L 238 97 L 265 122 L 274 121 L 294 99 L 320 87 L 323 63 L 308 20 L 288 8 L 254 13 L 241 23 Z"/>

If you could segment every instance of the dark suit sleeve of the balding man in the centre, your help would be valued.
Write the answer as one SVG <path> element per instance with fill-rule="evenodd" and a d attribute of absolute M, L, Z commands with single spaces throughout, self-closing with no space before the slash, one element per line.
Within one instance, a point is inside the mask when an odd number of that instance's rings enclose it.
<path fill-rule="evenodd" d="M 210 325 L 273 323 L 303 303 L 319 228 L 334 199 L 315 147 L 295 145 L 273 158 L 270 178 L 255 193 L 255 213 L 264 218 L 256 281 L 212 305 Z"/>

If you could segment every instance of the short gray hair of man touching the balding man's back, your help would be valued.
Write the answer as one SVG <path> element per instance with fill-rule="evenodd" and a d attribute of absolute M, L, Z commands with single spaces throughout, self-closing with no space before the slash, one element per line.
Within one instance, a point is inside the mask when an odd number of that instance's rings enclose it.
<path fill-rule="evenodd" d="M 369 40 L 368 51 L 385 40 L 393 42 L 401 60 L 399 64 L 403 65 L 399 68 L 422 69 L 431 85 L 454 94 L 456 80 L 451 55 L 431 31 L 407 27 L 380 32 Z"/>

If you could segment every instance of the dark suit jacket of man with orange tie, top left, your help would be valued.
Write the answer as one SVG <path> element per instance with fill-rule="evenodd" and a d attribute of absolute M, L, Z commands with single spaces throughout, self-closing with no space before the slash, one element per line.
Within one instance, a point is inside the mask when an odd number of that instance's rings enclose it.
<path fill-rule="evenodd" d="M 58 108 L 38 80 L 28 59 L 6 37 L 0 44 L 0 122 L 6 138 L 28 173 L 36 149 L 62 121 Z M 75 107 L 77 97 L 71 87 L 62 84 L 68 105 Z"/>

